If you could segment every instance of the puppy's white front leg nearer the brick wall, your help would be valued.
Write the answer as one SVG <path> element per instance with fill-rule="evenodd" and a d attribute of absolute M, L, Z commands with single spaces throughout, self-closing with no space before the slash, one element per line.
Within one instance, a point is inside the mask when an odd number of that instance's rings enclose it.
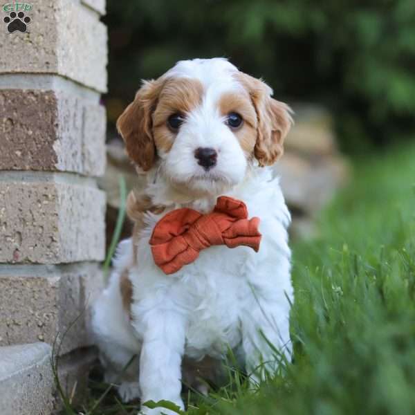
<path fill-rule="evenodd" d="M 141 402 L 170 400 L 181 409 L 181 362 L 185 348 L 185 318 L 171 309 L 147 311 L 142 315 L 142 348 L 140 353 Z M 168 409 L 149 409 L 142 414 L 174 414 Z"/>

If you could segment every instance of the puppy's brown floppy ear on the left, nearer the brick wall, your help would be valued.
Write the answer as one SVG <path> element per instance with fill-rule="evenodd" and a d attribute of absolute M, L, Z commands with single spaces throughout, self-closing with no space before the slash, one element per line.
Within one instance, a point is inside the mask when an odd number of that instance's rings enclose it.
<path fill-rule="evenodd" d="M 124 139 L 129 158 L 145 172 L 156 159 L 151 115 L 162 86 L 160 80 L 145 81 L 136 93 L 136 98 L 117 120 L 117 129 Z"/>

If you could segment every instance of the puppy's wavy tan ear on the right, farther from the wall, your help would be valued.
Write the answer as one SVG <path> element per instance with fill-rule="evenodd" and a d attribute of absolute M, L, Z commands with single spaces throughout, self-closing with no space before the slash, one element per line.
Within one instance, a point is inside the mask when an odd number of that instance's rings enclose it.
<path fill-rule="evenodd" d="M 291 109 L 284 102 L 271 98 L 273 90 L 255 77 L 241 74 L 257 112 L 257 142 L 254 155 L 261 167 L 273 165 L 284 153 L 284 138 L 293 124 Z"/>

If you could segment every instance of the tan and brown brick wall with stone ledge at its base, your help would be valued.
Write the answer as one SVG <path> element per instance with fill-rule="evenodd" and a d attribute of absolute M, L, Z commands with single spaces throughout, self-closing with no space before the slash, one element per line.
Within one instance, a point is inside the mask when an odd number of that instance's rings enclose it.
<path fill-rule="evenodd" d="M 1 415 L 57 407 L 51 345 L 79 315 L 61 372 L 81 393 L 104 259 L 104 0 L 28 3 L 26 33 L 8 33 L 0 8 Z"/>

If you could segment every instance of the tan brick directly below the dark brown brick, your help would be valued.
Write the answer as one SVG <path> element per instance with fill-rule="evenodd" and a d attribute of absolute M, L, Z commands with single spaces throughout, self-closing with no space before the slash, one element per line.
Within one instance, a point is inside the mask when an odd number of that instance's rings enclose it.
<path fill-rule="evenodd" d="M 54 183 L 53 174 L 41 182 L 34 175 L 24 183 L 15 176 L 0 181 L 0 262 L 104 259 L 104 193 L 93 183 Z"/>

